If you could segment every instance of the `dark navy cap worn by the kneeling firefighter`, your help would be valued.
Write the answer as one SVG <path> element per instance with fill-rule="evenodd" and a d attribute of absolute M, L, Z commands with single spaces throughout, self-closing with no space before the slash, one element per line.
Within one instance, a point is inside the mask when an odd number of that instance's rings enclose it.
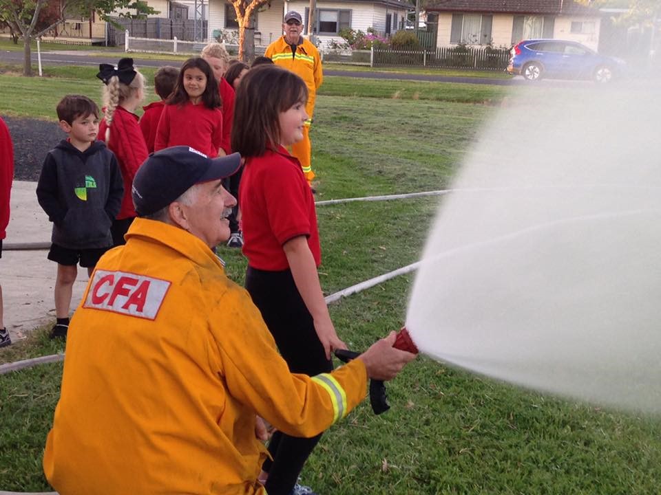
<path fill-rule="evenodd" d="M 189 146 L 172 146 L 149 155 L 131 188 L 138 217 L 162 210 L 191 186 L 233 175 L 241 166 L 241 156 L 209 158 Z"/>

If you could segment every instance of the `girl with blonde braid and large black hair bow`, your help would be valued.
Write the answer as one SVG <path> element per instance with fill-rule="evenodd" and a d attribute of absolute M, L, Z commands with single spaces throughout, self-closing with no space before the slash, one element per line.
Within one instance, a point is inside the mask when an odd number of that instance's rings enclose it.
<path fill-rule="evenodd" d="M 112 223 L 114 246 L 125 244 L 124 234 L 136 217 L 131 186 L 138 168 L 147 159 L 147 144 L 134 112 L 145 95 L 145 77 L 133 67 L 133 58 L 122 58 L 117 67 L 99 65 L 96 77 L 103 81 L 104 115 L 98 139 L 104 141 L 119 164 L 124 181 L 122 206 Z"/>

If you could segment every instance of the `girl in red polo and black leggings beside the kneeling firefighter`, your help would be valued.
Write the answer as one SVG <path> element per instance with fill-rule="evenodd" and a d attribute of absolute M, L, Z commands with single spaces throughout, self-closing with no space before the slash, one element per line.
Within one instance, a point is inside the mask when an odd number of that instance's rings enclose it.
<path fill-rule="evenodd" d="M 292 373 L 315 376 L 331 371 L 330 353 L 346 346 L 319 284 L 315 201 L 300 163 L 285 147 L 303 138 L 307 98 L 305 83 L 293 72 L 275 65 L 251 69 L 236 94 L 231 146 L 246 160 L 239 188 L 246 289 Z M 273 434 L 273 461 L 260 475 L 269 495 L 313 493 L 295 485 L 319 437 Z"/>

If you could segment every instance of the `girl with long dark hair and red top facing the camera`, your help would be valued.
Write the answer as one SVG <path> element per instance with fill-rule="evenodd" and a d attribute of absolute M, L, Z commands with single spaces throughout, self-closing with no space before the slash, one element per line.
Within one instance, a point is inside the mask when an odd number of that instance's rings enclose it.
<path fill-rule="evenodd" d="M 160 114 L 154 151 L 184 145 L 212 158 L 224 156 L 221 107 L 211 66 L 200 57 L 189 58 Z"/>

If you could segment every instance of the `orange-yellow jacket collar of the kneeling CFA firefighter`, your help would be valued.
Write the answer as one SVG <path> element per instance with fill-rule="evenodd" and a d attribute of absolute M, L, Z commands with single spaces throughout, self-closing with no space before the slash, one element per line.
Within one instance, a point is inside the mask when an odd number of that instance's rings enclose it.
<path fill-rule="evenodd" d="M 194 236 L 182 228 L 162 221 L 136 218 L 126 233 L 127 244 L 132 239 L 143 240 L 149 243 L 158 243 L 181 256 L 190 259 L 193 263 L 205 267 L 218 267 L 224 272 L 225 263 L 216 256 L 202 239 Z"/>

